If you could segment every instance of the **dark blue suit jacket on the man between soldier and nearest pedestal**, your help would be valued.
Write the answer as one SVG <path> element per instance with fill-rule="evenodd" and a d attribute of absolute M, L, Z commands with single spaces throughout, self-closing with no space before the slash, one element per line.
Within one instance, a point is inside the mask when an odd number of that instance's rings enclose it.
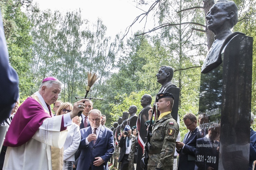
<path fill-rule="evenodd" d="M 196 147 L 196 139 L 197 139 L 197 130 L 193 131 L 193 133 L 188 138 L 188 133 L 186 133 L 183 143 L 185 144 L 183 149 L 176 150 L 179 153 L 179 162 L 178 162 L 178 170 L 194 170 L 195 169 L 195 147 Z"/>

